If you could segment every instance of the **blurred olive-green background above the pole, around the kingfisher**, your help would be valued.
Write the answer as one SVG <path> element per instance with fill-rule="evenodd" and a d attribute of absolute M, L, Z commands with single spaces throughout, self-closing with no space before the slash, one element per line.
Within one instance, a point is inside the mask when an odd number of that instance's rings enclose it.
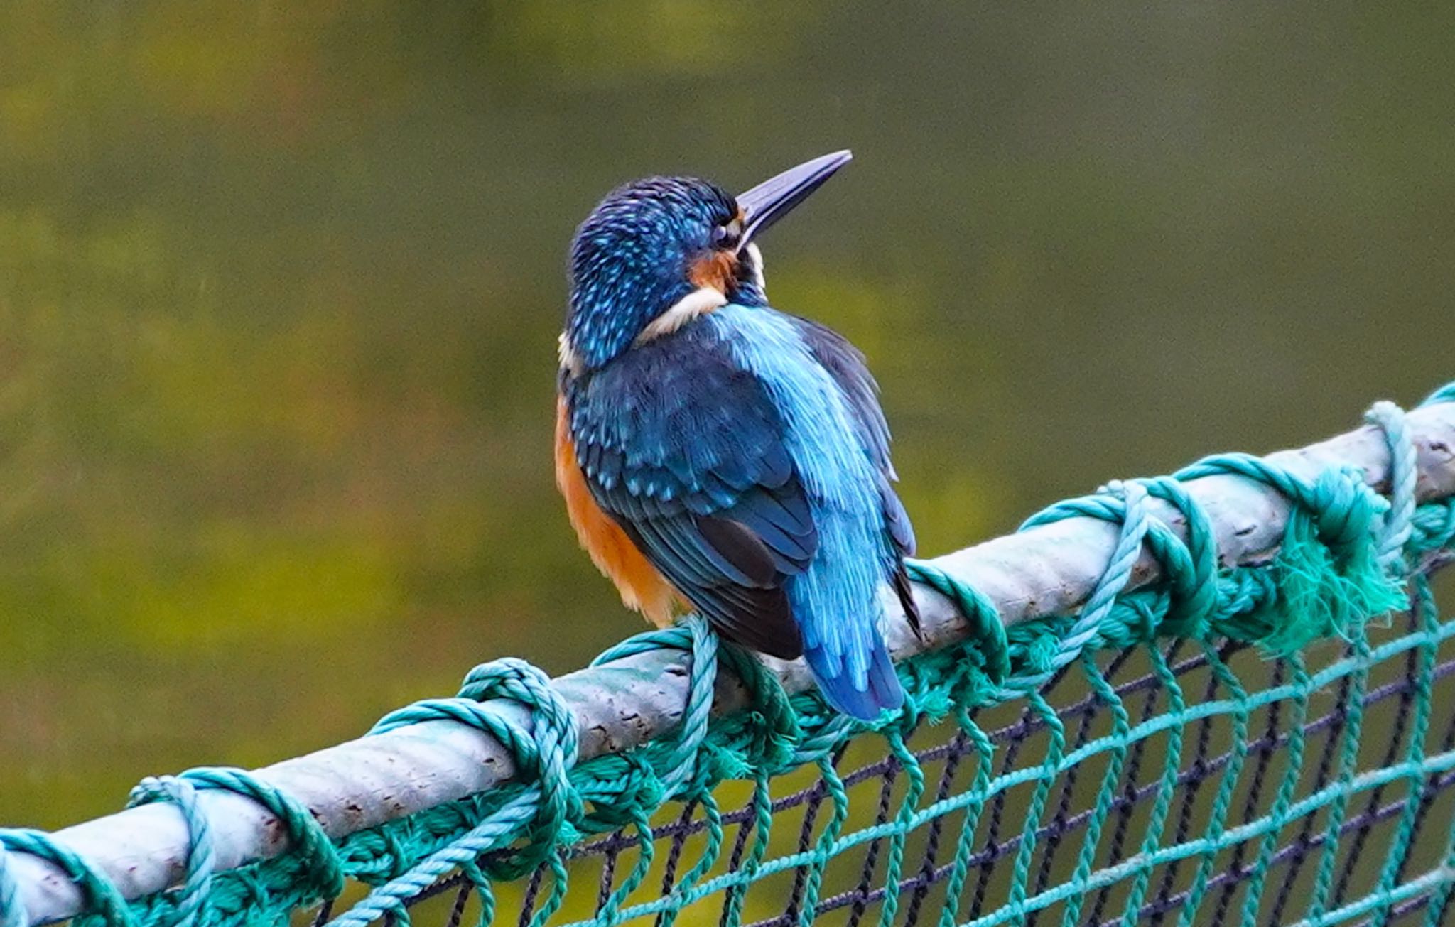
<path fill-rule="evenodd" d="M 639 629 L 550 434 L 613 185 L 857 160 L 764 242 L 922 553 L 1455 377 L 1455 10 L 0 6 L 0 822 Z"/>

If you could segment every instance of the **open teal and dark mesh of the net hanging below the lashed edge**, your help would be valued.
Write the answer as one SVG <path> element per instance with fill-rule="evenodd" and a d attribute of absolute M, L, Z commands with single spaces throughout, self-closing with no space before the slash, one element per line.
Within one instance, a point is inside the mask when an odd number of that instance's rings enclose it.
<path fill-rule="evenodd" d="M 768 783 L 768 813 L 725 784 L 650 838 L 586 841 L 549 917 L 550 863 L 485 907 L 521 927 L 1445 923 L 1452 634 L 1417 607 L 1288 659 L 1088 655 L 1029 704 L 851 741 Z M 473 923 L 479 885 L 454 873 L 406 907 Z"/>

